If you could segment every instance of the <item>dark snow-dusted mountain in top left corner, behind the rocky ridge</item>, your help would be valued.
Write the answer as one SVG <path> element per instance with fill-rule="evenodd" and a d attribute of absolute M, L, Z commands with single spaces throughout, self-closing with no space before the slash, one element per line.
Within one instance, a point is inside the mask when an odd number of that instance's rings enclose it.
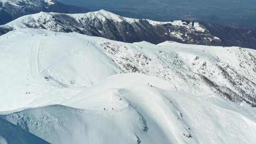
<path fill-rule="evenodd" d="M 21 16 L 38 13 L 40 11 L 59 13 L 84 13 L 89 11 L 88 9 L 65 5 L 54 0 L 52 1 L 54 2 L 53 4 L 49 4 L 45 0 L 17 0 L 10 3 L 0 1 L 0 25 L 6 24 Z"/>

